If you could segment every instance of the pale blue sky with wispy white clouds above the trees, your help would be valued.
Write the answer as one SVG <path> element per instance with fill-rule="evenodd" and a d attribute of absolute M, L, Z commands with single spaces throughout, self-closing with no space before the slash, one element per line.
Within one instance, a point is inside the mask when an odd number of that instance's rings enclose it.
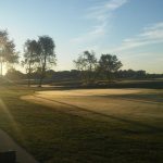
<path fill-rule="evenodd" d="M 0 0 L 0 29 L 23 53 L 26 39 L 49 35 L 54 70 L 75 68 L 85 50 L 116 54 L 123 68 L 163 73 L 163 0 Z"/>

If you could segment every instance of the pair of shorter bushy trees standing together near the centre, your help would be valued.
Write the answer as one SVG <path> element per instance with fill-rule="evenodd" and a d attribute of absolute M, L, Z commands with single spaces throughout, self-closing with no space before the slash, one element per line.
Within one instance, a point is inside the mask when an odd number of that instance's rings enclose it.
<path fill-rule="evenodd" d="M 101 75 L 110 80 L 123 66 L 117 57 L 112 54 L 101 54 L 98 61 L 93 51 L 84 51 L 74 63 L 86 83 L 91 83 Z"/>

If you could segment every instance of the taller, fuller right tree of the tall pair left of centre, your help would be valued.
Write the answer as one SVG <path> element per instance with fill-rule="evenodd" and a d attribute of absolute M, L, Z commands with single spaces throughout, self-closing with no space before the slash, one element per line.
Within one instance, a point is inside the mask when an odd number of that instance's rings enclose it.
<path fill-rule="evenodd" d="M 42 85 L 42 80 L 46 76 L 46 71 L 57 64 L 57 57 L 54 52 L 54 41 L 49 36 L 40 36 L 38 40 L 38 45 L 40 48 L 39 52 L 39 67 L 38 71 L 40 72 L 40 80 L 39 87 Z"/>

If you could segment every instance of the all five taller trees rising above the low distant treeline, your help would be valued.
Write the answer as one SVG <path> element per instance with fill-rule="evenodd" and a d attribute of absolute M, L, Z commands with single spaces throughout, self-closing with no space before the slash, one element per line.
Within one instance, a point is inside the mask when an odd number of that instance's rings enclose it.
<path fill-rule="evenodd" d="M 39 75 L 39 86 L 41 87 L 46 72 L 57 63 L 54 49 L 54 41 L 49 36 L 40 36 L 37 40 L 27 39 L 25 41 L 21 65 L 26 70 L 28 86 L 30 86 L 32 74 L 36 73 Z M 8 32 L 0 30 L 1 76 L 4 64 L 9 66 L 9 64 L 18 63 L 18 54 L 13 40 L 9 39 Z M 80 72 L 82 78 L 87 83 L 93 82 L 99 74 L 111 79 L 113 73 L 122 67 L 122 63 L 116 55 L 102 54 L 98 61 L 93 51 L 84 51 L 74 63 Z"/>

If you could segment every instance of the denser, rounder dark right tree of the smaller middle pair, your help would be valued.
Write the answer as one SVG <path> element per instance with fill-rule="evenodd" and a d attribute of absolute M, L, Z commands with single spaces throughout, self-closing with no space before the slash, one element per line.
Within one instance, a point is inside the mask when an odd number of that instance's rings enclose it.
<path fill-rule="evenodd" d="M 99 60 L 99 71 L 102 72 L 108 79 L 111 79 L 112 74 L 117 72 L 123 66 L 116 55 L 102 54 Z"/>

